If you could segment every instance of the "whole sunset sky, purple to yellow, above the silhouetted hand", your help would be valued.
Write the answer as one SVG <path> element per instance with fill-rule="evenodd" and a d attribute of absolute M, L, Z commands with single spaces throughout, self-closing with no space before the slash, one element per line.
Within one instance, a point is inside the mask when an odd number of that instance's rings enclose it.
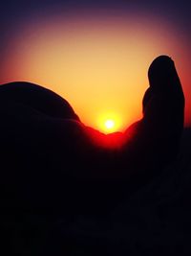
<path fill-rule="evenodd" d="M 191 126 L 189 1 L 1 1 L 0 83 L 31 81 L 64 97 L 88 126 L 141 118 L 152 60 L 175 60 Z"/>

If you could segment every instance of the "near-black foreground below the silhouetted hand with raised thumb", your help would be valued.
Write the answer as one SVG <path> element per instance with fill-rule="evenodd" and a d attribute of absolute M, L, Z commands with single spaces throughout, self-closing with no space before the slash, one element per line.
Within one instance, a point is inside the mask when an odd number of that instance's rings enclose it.
<path fill-rule="evenodd" d="M 190 255 L 190 147 L 107 216 L 1 211 L 1 255 Z"/>

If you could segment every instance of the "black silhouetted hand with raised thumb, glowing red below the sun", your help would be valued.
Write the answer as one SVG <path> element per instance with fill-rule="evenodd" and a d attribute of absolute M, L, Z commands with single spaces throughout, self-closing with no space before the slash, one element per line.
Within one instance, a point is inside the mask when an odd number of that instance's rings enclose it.
<path fill-rule="evenodd" d="M 103 216 L 160 175 L 179 152 L 184 97 L 171 58 L 156 58 L 148 76 L 142 119 L 109 135 L 48 89 L 1 85 L 2 211 Z"/>

